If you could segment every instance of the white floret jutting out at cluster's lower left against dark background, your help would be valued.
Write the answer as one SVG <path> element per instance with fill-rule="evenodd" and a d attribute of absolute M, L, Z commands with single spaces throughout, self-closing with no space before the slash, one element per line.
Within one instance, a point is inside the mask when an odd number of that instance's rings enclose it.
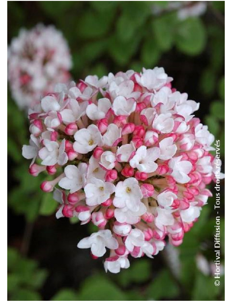
<path fill-rule="evenodd" d="M 110 230 L 100 230 L 92 233 L 91 236 L 81 239 L 77 247 L 80 249 L 91 248 L 91 253 L 96 257 L 102 257 L 108 249 L 117 249 L 117 240 L 113 238 Z"/>

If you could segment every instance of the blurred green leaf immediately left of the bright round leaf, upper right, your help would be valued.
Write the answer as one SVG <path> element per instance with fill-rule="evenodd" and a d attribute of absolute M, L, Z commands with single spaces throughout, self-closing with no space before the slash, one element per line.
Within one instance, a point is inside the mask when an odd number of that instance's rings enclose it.
<path fill-rule="evenodd" d="M 156 43 L 160 49 L 169 50 L 174 42 L 176 30 L 176 14 L 165 14 L 158 17 L 151 23 L 156 38 Z M 152 40 L 152 39 L 151 39 Z"/>

